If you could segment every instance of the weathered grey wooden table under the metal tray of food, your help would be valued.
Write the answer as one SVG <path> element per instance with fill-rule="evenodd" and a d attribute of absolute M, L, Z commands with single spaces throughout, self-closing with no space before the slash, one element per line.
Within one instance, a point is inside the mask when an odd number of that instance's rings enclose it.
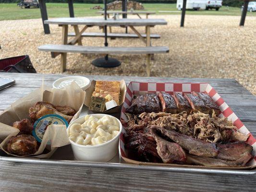
<path fill-rule="evenodd" d="M 0 111 L 44 83 L 51 86 L 62 74 L 0 73 L 16 84 L 0 91 Z M 234 79 L 127 77 L 86 75 L 90 80 L 140 82 L 207 82 L 256 135 L 256 96 Z M 254 192 L 256 174 L 231 175 L 7 162 L 0 159 L 0 191 L 19 192 Z"/>

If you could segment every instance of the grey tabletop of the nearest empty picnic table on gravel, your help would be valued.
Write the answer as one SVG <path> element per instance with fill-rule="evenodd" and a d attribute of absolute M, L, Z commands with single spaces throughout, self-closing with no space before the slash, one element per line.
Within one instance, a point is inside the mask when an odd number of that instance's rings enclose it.
<path fill-rule="evenodd" d="M 92 26 L 154 26 L 167 25 L 164 19 L 108 19 L 103 18 L 54 18 L 44 21 L 44 24 L 82 24 Z"/>

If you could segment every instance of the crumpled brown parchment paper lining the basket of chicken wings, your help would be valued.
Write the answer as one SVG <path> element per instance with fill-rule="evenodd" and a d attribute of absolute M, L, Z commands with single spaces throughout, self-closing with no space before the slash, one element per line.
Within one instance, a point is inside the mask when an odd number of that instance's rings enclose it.
<path fill-rule="evenodd" d="M 12 123 L 17 120 L 29 119 L 28 109 L 38 101 L 46 101 L 53 105 L 70 106 L 77 112 L 71 122 L 77 119 L 83 108 L 85 101 L 85 91 L 76 83 L 72 83 L 66 89 L 49 88 L 42 85 L 27 96 L 15 101 L 9 108 L 6 108 L 0 115 L 0 149 L 8 155 L 16 156 L 6 151 L 6 146 L 10 137 L 18 134 L 19 130 L 12 127 Z M 71 123 L 70 122 L 70 123 Z M 49 145 L 50 143 L 50 145 Z M 50 125 L 42 139 L 38 151 L 29 155 L 31 157 L 49 158 L 60 146 L 70 144 L 65 125 Z M 48 149 L 47 153 L 42 154 Z"/>

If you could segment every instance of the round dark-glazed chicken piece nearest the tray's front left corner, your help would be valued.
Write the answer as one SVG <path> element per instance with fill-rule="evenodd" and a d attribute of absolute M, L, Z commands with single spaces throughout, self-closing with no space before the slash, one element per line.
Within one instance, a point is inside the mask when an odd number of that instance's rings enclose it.
<path fill-rule="evenodd" d="M 37 152 L 37 140 L 27 134 L 12 136 L 8 142 L 7 151 L 17 156 L 34 154 Z"/>

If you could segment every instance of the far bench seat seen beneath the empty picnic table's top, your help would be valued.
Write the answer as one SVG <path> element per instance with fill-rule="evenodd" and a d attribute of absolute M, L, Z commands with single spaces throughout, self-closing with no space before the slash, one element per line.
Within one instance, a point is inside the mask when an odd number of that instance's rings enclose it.
<path fill-rule="evenodd" d="M 68 36 L 75 36 L 75 33 L 69 33 Z M 105 37 L 105 33 L 83 33 L 83 37 Z M 141 34 L 142 37 L 146 37 L 146 34 Z M 109 38 L 139 38 L 136 34 L 129 33 L 108 33 Z M 160 38 L 158 34 L 151 34 L 150 38 Z"/>

